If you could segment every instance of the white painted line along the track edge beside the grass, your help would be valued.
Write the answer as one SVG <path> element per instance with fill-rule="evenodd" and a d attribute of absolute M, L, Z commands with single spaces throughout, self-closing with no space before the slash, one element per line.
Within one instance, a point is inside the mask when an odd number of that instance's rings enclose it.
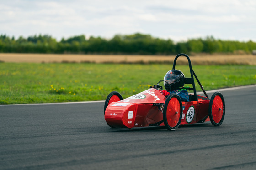
<path fill-rule="evenodd" d="M 256 85 L 245 85 L 245 86 L 239 86 L 239 87 L 231 87 L 231 88 L 225 88 L 225 89 L 210 90 L 210 91 L 206 91 L 206 93 L 213 93 L 215 91 L 238 90 L 238 89 L 244 89 L 244 88 L 250 88 L 250 87 L 256 87 Z M 200 92 L 197 93 L 197 95 L 199 95 L 199 94 L 203 94 L 203 91 L 200 91 Z M 65 104 L 102 103 L 102 102 L 105 102 L 105 100 L 101 100 L 101 101 L 64 102 L 64 103 L 14 104 L 14 105 L 65 105 Z M 0 105 L 0 106 L 13 106 L 13 105 Z"/>

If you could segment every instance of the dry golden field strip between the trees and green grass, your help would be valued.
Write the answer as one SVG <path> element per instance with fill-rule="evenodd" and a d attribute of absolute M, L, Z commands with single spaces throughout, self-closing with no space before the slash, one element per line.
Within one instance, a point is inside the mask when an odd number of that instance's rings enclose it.
<path fill-rule="evenodd" d="M 256 65 L 256 55 L 190 55 L 192 64 L 241 64 Z M 93 62 L 93 63 L 171 63 L 175 55 L 75 55 L 75 54 L 16 54 L 0 53 L 1 62 Z M 185 57 L 177 62 L 187 64 Z"/>

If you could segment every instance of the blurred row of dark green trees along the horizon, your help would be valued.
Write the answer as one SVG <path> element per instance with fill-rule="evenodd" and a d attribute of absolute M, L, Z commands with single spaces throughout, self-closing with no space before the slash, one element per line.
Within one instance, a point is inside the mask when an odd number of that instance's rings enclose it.
<path fill-rule="evenodd" d="M 178 53 L 243 53 L 256 50 L 256 42 L 217 40 L 213 36 L 175 43 L 151 35 L 115 35 L 112 39 L 78 35 L 57 41 L 50 35 L 34 35 L 18 39 L 0 35 L 0 53 L 55 53 L 55 54 L 140 54 L 176 55 Z"/>

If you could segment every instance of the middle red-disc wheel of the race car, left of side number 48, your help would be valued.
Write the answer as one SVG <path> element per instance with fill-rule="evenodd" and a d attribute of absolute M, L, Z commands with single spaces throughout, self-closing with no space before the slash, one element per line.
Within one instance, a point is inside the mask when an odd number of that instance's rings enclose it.
<path fill-rule="evenodd" d="M 171 94 L 165 100 L 163 119 L 165 127 L 170 130 L 176 130 L 182 118 L 182 103 L 181 98 L 176 94 Z"/>

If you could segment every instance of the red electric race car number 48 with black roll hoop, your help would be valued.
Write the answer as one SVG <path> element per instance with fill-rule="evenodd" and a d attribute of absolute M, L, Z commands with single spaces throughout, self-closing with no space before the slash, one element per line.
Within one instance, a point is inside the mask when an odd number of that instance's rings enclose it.
<path fill-rule="evenodd" d="M 192 84 L 194 94 L 189 94 L 189 101 L 181 101 L 180 96 L 171 94 L 167 98 L 160 93 L 161 81 L 126 99 L 117 91 L 111 92 L 105 101 L 104 115 L 107 125 L 112 128 L 123 127 L 146 127 L 163 126 L 172 131 L 179 125 L 203 123 L 211 121 L 214 126 L 222 124 L 225 115 L 224 97 L 220 92 L 215 92 L 211 99 L 208 98 L 203 86 L 199 82 L 195 72 L 192 70 L 191 61 L 186 54 L 179 54 L 175 57 L 172 69 L 175 69 L 176 60 L 180 56 L 187 57 L 190 78 L 185 78 L 185 84 Z M 195 81 L 204 92 L 204 96 L 197 95 Z M 183 87 L 184 89 L 184 87 Z"/>

